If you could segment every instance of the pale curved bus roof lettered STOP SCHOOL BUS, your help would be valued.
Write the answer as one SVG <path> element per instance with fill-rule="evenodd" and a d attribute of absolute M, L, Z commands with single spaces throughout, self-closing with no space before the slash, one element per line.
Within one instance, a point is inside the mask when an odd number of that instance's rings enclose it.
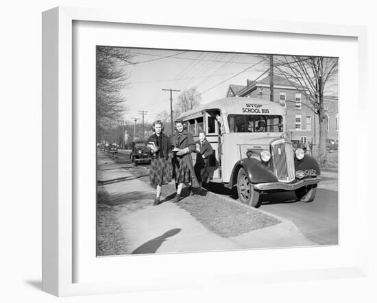
<path fill-rule="evenodd" d="M 208 104 L 197 106 L 180 115 L 178 119 L 194 119 L 202 115 L 203 110 L 221 110 L 223 114 L 276 114 L 285 116 L 286 110 L 280 104 L 269 100 L 232 97 L 212 101 Z"/>

